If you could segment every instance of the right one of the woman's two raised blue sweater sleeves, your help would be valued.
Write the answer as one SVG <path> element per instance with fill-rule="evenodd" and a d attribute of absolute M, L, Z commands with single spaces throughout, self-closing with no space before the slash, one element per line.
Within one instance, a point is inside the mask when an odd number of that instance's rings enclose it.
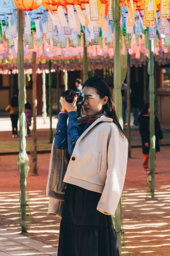
<path fill-rule="evenodd" d="M 77 124 L 77 112 L 70 111 L 68 113 L 69 116 L 69 123 L 68 123 L 68 132 L 67 132 L 67 140 L 68 140 L 68 151 L 69 154 L 72 155 L 76 141 L 79 138 L 79 127 Z"/>

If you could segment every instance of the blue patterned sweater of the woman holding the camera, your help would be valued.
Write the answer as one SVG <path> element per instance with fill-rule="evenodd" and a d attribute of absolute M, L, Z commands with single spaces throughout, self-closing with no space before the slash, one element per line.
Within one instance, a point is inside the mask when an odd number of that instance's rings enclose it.
<path fill-rule="evenodd" d="M 73 153 L 78 138 L 91 125 L 91 122 L 87 122 L 78 126 L 76 114 L 76 111 L 71 111 L 67 114 L 59 113 L 57 128 L 54 134 L 54 146 L 58 149 L 68 149 L 70 155 Z M 67 126 L 68 117 L 69 122 Z"/>

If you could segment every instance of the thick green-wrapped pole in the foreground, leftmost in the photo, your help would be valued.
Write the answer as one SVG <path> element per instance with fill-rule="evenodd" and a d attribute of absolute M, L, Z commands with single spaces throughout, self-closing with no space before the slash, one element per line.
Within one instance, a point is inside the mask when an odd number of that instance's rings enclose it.
<path fill-rule="evenodd" d="M 23 54 L 23 11 L 17 9 L 18 17 L 18 103 L 19 103 L 19 154 L 18 169 L 20 173 L 20 209 L 19 221 L 21 231 L 25 232 L 31 225 L 31 214 L 28 206 L 29 196 L 26 188 L 26 178 L 29 171 L 29 158 L 26 153 L 27 126 L 25 121 L 24 102 L 24 54 Z"/>

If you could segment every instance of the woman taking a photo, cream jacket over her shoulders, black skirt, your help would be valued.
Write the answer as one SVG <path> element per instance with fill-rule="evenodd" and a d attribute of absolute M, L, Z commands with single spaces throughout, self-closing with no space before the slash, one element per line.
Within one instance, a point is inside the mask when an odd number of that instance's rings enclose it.
<path fill-rule="evenodd" d="M 47 184 L 48 214 L 62 217 L 58 256 L 118 256 L 111 215 L 124 185 L 128 143 L 101 77 L 89 78 L 82 92 L 83 118 L 76 117 L 76 96 L 73 103 L 61 101 Z"/>

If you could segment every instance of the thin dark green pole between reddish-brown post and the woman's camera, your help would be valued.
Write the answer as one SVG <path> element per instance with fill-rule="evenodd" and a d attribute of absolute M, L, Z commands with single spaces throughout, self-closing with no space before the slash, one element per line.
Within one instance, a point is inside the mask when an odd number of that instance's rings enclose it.
<path fill-rule="evenodd" d="M 51 60 L 48 60 L 48 114 L 50 119 L 50 130 L 49 130 L 49 143 L 53 142 L 53 130 L 52 130 L 52 90 L 51 90 L 51 84 L 52 84 L 52 76 L 51 76 Z"/>

